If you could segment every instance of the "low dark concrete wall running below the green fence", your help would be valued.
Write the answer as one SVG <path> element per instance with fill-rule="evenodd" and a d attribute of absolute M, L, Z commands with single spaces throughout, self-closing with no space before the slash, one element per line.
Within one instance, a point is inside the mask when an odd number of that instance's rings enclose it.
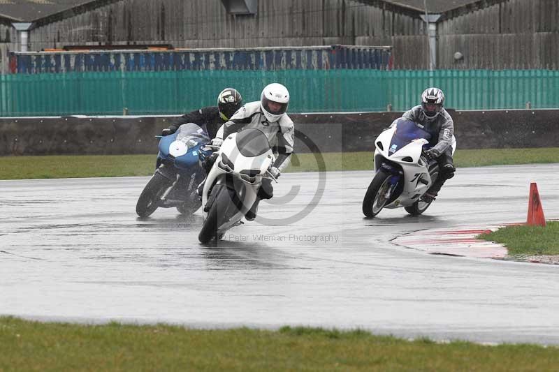
<path fill-rule="evenodd" d="M 559 110 L 453 111 L 458 149 L 556 147 Z M 296 151 L 372 151 L 375 137 L 402 112 L 291 114 Z M 172 117 L 3 118 L 0 155 L 156 154 Z M 309 141 L 310 140 L 310 141 Z"/>

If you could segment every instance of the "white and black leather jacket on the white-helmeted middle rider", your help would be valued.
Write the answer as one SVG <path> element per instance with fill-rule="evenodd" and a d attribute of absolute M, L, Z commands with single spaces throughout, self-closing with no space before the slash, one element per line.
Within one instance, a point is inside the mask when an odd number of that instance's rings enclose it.
<path fill-rule="evenodd" d="M 242 128 L 257 128 L 268 137 L 270 145 L 277 149 L 277 158 L 273 166 L 280 172 L 289 165 L 293 153 L 295 126 L 287 114 L 283 114 L 278 121 L 270 123 L 261 110 L 260 101 L 249 102 L 235 112 L 222 128 L 219 128 L 216 137 L 226 138 Z"/>

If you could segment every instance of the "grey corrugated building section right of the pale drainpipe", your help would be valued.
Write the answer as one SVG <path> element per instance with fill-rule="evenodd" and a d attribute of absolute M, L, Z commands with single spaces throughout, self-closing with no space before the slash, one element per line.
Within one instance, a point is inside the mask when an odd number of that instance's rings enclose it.
<path fill-rule="evenodd" d="M 559 1 L 486 0 L 449 10 L 437 48 L 438 68 L 557 69 Z"/>

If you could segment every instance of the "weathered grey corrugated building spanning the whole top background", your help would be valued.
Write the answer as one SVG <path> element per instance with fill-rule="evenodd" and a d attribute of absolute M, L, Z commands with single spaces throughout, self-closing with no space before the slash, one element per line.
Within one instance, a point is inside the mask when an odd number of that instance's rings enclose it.
<path fill-rule="evenodd" d="M 394 68 L 428 68 L 427 11 L 436 18 L 437 68 L 557 68 L 558 3 L 427 0 L 424 9 L 423 0 L 19 0 L 0 3 L 0 52 L 6 72 L 6 52 L 24 47 L 391 45 Z"/>

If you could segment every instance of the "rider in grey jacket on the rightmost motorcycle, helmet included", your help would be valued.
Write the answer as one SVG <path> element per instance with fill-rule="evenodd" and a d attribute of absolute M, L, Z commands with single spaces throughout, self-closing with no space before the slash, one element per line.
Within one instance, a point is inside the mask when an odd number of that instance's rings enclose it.
<path fill-rule="evenodd" d="M 454 171 L 456 170 L 452 160 L 451 147 L 454 122 L 443 106 L 444 94 L 442 90 L 431 87 L 425 89 L 421 94 L 421 105 L 412 107 L 411 110 L 402 115 L 402 118 L 415 121 L 431 134 L 433 147 L 426 151 L 426 156 L 430 160 L 437 161 L 440 172 L 433 186 L 423 195 L 423 200 L 426 202 L 435 200 L 444 182 L 454 177 Z"/>

